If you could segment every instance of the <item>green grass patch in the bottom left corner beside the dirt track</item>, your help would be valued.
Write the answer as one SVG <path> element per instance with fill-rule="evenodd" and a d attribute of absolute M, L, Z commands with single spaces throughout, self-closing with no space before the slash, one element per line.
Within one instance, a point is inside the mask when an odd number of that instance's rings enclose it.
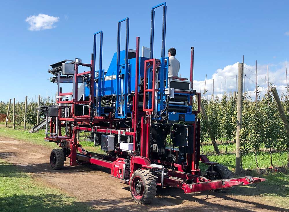
<path fill-rule="evenodd" d="M 58 189 L 41 185 L 28 173 L 0 160 L 0 211 L 95 211 Z"/>

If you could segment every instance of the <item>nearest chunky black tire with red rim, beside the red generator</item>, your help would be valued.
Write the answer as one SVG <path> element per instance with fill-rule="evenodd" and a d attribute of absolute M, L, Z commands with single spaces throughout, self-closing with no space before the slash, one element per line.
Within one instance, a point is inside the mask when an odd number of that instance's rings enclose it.
<path fill-rule="evenodd" d="M 148 170 L 136 170 L 130 178 L 130 192 L 138 204 L 148 204 L 153 201 L 157 191 L 155 178 Z"/>

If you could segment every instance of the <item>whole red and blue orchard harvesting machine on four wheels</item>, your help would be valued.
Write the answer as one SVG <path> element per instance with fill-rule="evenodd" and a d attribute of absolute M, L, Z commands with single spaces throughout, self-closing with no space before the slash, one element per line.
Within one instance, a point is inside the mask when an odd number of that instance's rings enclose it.
<path fill-rule="evenodd" d="M 161 58 L 153 58 L 155 9 L 163 8 Z M 120 50 L 121 23 L 125 24 L 125 49 Z M 99 38 L 99 40 L 98 40 Z M 50 79 L 58 85 L 57 105 L 40 106 L 46 114 L 46 141 L 57 143 L 50 156 L 52 169 L 95 164 L 111 169 L 111 176 L 129 185 L 132 198 L 149 203 L 157 186 L 177 187 L 185 193 L 223 189 L 261 182 L 256 177 L 232 178 L 224 165 L 200 154 L 200 93 L 192 89 L 194 48 L 191 48 L 190 80 L 168 78 L 165 57 L 166 3 L 151 10 L 149 55 L 129 49 L 129 18 L 118 21 L 117 51 L 108 70 L 102 69 L 103 32 L 94 34 L 90 64 L 80 59 L 51 65 Z M 97 43 L 99 51 L 97 53 Z M 99 55 L 98 61 L 97 54 Z M 97 70 L 96 62 L 99 64 Z M 81 69 L 88 71 L 81 72 Z M 60 84 L 72 84 L 63 93 Z M 193 110 L 193 99 L 198 107 Z M 50 123 L 49 123 L 49 121 Z M 49 127 L 50 125 L 50 127 Z M 79 144 L 79 132 L 88 132 L 106 154 L 88 152 Z M 208 165 L 201 176 L 199 162 Z"/>

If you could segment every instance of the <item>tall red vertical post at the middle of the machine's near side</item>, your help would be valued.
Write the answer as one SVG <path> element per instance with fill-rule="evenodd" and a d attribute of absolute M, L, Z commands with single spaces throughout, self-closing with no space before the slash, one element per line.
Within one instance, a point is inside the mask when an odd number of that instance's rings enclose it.
<path fill-rule="evenodd" d="M 136 37 L 136 86 L 134 91 L 134 132 L 137 132 L 138 127 L 138 77 L 139 77 L 139 58 L 140 58 L 140 37 Z M 138 147 L 136 143 L 136 134 L 134 136 L 134 150 Z"/>

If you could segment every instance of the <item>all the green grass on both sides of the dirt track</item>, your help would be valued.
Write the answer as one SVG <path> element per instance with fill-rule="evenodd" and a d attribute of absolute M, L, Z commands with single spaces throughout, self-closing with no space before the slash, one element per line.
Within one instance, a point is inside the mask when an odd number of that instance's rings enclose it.
<path fill-rule="evenodd" d="M 57 148 L 58 145 L 44 141 L 44 130 L 31 134 L 28 131 L 12 130 L 0 126 L 0 135 L 9 139 L 20 139 L 36 145 L 43 145 L 48 148 Z M 82 138 L 81 138 L 82 139 Z M 92 142 L 81 141 L 83 147 L 89 151 L 102 152 L 100 147 L 94 147 Z M 220 145 L 221 148 L 223 148 Z M 234 145 L 230 144 L 230 148 Z M 211 147 L 208 147 L 211 148 Z M 221 149 L 220 148 L 220 149 Z M 209 156 L 211 161 L 218 161 L 229 169 L 235 169 L 235 155 L 227 154 L 221 156 Z M 260 167 L 268 167 L 270 160 L 268 153 L 259 154 Z M 273 161 L 280 161 L 281 165 L 286 155 L 284 153 L 274 153 Z M 282 162 L 283 161 L 283 162 Z M 278 163 L 276 163 L 278 164 Z M 252 154 L 243 156 L 243 167 L 255 168 L 255 158 Z M 201 166 L 205 169 L 205 166 Z M 259 175 L 267 179 L 266 182 L 253 184 L 251 186 L 236 187 L 232 194 L 244 196 L 260 196 L 262 201 L 273 202 L 274 205 L 289 209 L 289 175 L 275 173 Z M 234 201 L 234 199 L 232 199 Z M 16 166 L 0 160 L 0 211 L 95 211 L 85 202 L 79 202 L 76 198 L 61 192 L 58 189 L 50 188 L 34 180 L 29 173 L 23 173 Z"/>

